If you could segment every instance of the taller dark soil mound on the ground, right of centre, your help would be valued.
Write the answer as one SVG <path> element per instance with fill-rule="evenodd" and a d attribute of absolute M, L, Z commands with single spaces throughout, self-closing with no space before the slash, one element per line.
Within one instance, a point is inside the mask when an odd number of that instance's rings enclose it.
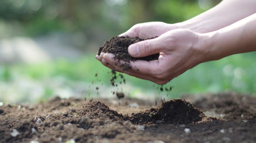
<path fill-rule="evenodd" d="M 188 124 L 201 121 L 204 117 L 206 117 L 204 113 L 194 108 L 190 102 L 174 99 L 162 102 L 157 108 L 132 114 L 130 120 L 134 124 Z"/>

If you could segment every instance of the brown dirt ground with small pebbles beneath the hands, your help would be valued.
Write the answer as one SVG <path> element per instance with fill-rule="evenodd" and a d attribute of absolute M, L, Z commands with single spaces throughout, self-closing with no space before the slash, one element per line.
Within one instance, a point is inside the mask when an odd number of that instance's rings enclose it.
<path fill-rule="evenodd" d="M 58 97 L 36 105 L 3 105 L 0 142 L 256 142 L 255 97 L 237 93 L 183 97 L 186 101 L 158 105 L 137 99 Z"/>

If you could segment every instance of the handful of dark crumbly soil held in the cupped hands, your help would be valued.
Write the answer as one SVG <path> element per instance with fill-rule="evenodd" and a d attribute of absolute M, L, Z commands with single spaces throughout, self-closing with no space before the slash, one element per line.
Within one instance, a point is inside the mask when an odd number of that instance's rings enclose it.
<path fill-rule="evenodd" d="M 147 38 L 147 39 L 153 39 L 153 38 L 156 38 L 156 36 L 152 38 Z M 146 60 L 146 61 L 157 60 L 159 57 L 159 53 L 149 55 L 147 57 L 141 57 L 141 58 L 131 57 L 128 53 L 129 45 L 134 44 L 136 42 L 144 41 L 147 39 L 138 38 L 137 36 L 136 37 L 115 36 L 109 39 L 108 41 L 104 42 L 104 45 L 99 48 L 97 54 L 100 55 L 101 52 L 112 53 L 115 55 L 114 57 L 115 60 L 118 60 L 118 61 L 123 60 L 128 63 L 130 61 L 136 61 L 136 60 Z"/>

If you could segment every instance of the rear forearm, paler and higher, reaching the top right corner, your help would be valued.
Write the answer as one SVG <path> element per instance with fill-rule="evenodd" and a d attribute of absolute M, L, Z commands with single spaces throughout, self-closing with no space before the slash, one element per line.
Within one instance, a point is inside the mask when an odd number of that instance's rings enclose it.
<path fill-rule="evenodd" d="M 198 33 L 216 31 L 256 13 L 256 0 L 223 0 L 217 6 L 185 22 L 177 23 Z"/>

